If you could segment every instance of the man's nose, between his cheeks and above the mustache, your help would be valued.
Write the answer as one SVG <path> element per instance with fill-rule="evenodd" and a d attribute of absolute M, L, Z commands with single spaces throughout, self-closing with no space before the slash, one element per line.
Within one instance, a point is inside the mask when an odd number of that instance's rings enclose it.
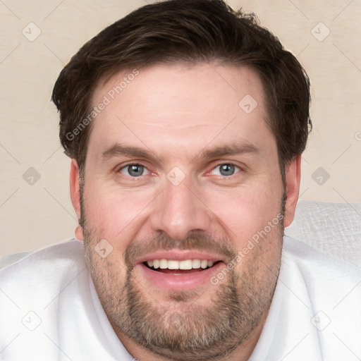
<path fill-rule="evenodd" d="M 199 192 L 198 192 L 199 193 Z M 209 231 L 212 214 L 200 195 L 185 180 L 179 185 L 166 181 L 150 216 L 153 231 L 183 239 L 190 231 Z"/>

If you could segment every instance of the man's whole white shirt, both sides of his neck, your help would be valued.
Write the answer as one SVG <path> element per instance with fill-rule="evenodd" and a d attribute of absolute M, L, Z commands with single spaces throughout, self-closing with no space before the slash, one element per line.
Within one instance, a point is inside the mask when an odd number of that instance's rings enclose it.
<path fill-rule="evenodd" d="M 360 269 L 285 236 L 274 299 L 249 360 L 360 358 Z M 134 360 L 99 302 L 80 241 L 0 271 L 0 360 Z"/>

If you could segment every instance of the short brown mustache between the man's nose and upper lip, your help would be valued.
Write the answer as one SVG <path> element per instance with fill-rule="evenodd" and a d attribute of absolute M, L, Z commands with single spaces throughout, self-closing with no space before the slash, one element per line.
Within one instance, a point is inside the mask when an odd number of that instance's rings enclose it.
<path fill-rule="evenodd" d="M 128 269 L 133 269 L 137 258 L 159 250 L 171 251 L 176 249 L 216 253 L 224 256 L 226 262 L 231 262 L 231 259 L 237 255 L 237 250 L 231 245 L 228 238 L 217 238 L 203 231 L 191 231 L 183 239 L 171 238 L 166 233 L 161 233 L 148 240 L 135 239 L 126 248 L 125 262 Z"/>

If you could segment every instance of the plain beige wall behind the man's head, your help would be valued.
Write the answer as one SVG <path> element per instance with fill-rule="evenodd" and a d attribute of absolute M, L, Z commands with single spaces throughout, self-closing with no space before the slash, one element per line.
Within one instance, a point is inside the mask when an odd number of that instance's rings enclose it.
<path fill-rule="evenodd" d="M 69 160 L 58 140 L 51 90 L 61 68 L 84 42 L 150 2 L 0 2 L 0 256 L 73 238 Z M 303 155 L 300 199 L 361 202 L 361 2 L 229 4 L 257 13 L 310 75 L 314 129 Z M 32 39 L 37 32 L 41 34 Z M 321 173 L 314 173 L 319 167 Z"/>

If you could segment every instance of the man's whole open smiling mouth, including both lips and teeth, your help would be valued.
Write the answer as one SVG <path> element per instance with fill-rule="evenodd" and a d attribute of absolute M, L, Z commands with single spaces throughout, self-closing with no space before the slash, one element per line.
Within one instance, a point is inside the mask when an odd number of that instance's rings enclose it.
<path fill-rule="evenodd" d="M 136 268 L 151 288 L 180 291 L 212 286 L 212 276 L 224 267 L 221 257 L 200 252 L 174 251 L 140 259 Z"/>

